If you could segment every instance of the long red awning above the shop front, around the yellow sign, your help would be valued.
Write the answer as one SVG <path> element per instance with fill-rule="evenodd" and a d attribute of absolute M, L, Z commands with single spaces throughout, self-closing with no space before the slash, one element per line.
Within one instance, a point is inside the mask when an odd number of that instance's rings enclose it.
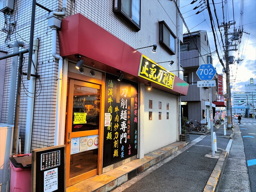
<path fill-rule="evenodd" d="M 142 54 L 80 13 L 62 19 L 59 40 L 62 57 L 76 61 L 79 54 L 88 66 L 112 74 L 118 69 L 125 78 L 148 84 L 138 76 Z M 173 94 L 188 92 L 188 83 L 177 76 L 173 89 L 158 84 L 154 87 Z"/>

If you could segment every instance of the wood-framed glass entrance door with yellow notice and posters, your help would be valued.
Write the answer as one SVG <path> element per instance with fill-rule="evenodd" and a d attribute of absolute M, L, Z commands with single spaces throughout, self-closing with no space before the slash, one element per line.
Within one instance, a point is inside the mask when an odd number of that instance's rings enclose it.
<path fill-rule="evenodd" d="M 97 174 L 100 85 L 69 80 L 66 124 L 67 186 Z"/>

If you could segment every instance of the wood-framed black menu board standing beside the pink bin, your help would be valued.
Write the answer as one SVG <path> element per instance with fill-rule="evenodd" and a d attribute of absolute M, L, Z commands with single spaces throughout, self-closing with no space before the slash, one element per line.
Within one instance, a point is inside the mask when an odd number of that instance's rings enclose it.
<path fill-rule="evenodd" d="M 66 191 L 65 145 L 32 151 L 32 191 Z"/>

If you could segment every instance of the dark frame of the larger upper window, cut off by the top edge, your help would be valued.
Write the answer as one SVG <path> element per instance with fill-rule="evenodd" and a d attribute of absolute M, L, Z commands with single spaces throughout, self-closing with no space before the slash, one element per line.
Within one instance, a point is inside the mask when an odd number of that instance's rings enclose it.
<path fill-rule="evenodd" d="M 118 14 L 124 20 L 126 20 L 126 22 L 128 22 L 132 27 L 134 27 L 137 32 L 140 30 L 140 24 L 141 24 L 141 0 L 139 1 L 140 1 L 140 11 L 139 11 L 140 20 L 139 20 L 139 23 L 137 23 L 122 10 L 122 0 L 113 0 L 113 12 Z"/>

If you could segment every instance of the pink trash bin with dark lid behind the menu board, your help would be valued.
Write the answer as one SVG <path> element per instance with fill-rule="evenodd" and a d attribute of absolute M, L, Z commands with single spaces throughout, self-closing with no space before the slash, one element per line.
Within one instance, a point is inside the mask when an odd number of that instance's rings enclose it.
<path fill-rule="evenodd" d="M 10 192 L 30 192 L 32 189 L 31 154 L 10 157 Z"/>

